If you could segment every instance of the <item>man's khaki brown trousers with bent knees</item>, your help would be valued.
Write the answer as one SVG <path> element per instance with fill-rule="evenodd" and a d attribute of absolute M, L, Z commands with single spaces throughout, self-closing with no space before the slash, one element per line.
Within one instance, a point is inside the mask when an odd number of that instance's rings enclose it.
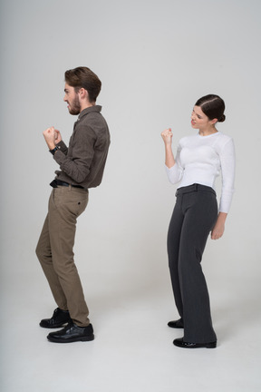
<path fill-rule="evenodd" d="M 43 223 L 36 255 L 60 309 L 69 310 L 79 327 L 90 324 L 82 283 L 74 264 L 73 245 L 77 218 L 88 203 L 88 191 L 58 186 L 54 188 Z"/>

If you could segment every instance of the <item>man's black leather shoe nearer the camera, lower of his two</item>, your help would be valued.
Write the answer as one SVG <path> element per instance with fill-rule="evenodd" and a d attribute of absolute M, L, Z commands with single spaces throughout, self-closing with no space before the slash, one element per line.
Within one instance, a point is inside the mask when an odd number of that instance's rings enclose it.
<path fill-rule="evenodd" d="M 51 332 L 47 338 L 55 343 L 90 341 L 94 339 L 92 324 L 89 324 L 87 327 L 78 327 L 71 321 L 67 327 L 57 332 Z"/>

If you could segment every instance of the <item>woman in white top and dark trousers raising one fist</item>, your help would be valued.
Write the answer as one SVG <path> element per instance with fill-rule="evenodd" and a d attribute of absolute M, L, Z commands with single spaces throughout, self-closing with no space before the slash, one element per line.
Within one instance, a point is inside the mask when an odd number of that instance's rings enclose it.
<path fill-rule="evenodd" d="M 168 233 L 169 271 L 180 316 L 168 325 L 184 328 L 184 337 L 173 341 L 180 348 L 217 347 L 200 262 L 209 232 L 212 240 L 218 240 L 224 233 L 234 190 L 234 143 L 216 128 L 217 122 L 225 121 L 224 111 L 225 103 L 218 95 L 200 98 L 191 114 L 191 126 L 198 134 L 179 141 L 175 158 L 171 129 L 161 133 L 169 181 L 180 181 Z M 218 209 L 215 180 L 220 172 L 222 191 Z"/>

